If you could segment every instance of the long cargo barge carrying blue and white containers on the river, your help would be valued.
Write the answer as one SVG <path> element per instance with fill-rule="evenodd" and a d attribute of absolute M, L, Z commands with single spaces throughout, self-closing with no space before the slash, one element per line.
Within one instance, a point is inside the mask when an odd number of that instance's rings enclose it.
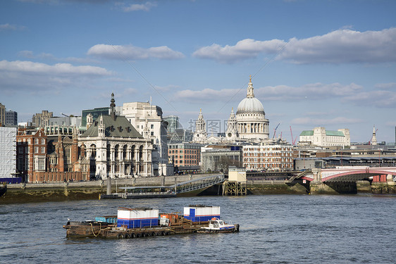
<path fill-rule="evenodd" d="M 131 239 L 155 237 L 169 234 L 197 233 L 209 227 L 212 218 L 220 218 L 218 206 L 189 206 L 184 215 L 159 213 L 152 208 L 118 208 L 118 215 L 97 217 L 92 221 L 68 221 L 63 228 L 66 237 L 100 237 Z M 239 232 L 240 225 L 234 225 L 232 232 Z"/>

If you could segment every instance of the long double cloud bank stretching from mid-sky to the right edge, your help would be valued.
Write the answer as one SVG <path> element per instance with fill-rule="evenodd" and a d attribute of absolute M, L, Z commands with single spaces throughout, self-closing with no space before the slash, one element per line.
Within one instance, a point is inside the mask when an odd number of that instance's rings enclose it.
<path fill-rule="evenodd" d="M 359 32 L 340 29 L 309 37 L 292 38 L 289 42 L 272 39 L 243 39 L 235 46 L 212 44 L 192 55 L 219 63 L 235 63 L 259 54 L 278 54 L 277 59 L 292 63 L 386 63 L 396 61 L 396 28 Z"/>

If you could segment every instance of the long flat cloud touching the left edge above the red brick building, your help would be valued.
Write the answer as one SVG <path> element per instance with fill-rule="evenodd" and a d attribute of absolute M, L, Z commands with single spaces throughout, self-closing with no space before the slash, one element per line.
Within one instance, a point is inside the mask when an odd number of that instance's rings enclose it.
<path fill-rule="evenodd" d="M 113 73 L 105 68 L 82 65 L 75 66 L 69 63 L 48 65 L 32 61 L 0 61 L 0 83 L 4 92 L 28 90 L 37 92 L 47 90 L 56 92 L 63 87 L 80 87 L 89 80 L 97 80 L 110 76 Z"/>

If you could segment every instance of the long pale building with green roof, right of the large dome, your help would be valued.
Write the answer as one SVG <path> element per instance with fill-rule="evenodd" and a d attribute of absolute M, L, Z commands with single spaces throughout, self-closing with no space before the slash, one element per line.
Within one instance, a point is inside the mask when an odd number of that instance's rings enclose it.
<path fill-rule="evenodd" d="M 299 146 L 314 145 L 321 147 L 350 146 L 351 137 L 349 129 L 343 128 L 337 131 L 326 130 L 325 127 L 315 127 L 314 130 L 304 130 L 299 134 Z"/>

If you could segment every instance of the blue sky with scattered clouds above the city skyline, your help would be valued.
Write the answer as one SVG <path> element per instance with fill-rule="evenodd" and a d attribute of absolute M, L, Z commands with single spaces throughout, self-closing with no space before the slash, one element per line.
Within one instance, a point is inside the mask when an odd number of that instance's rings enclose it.
<path fill-rule="evenodd" d="M 249 75 L 271 137 L 349 128 L 395 142 L 396 1 L 0 1 L 0 103 L 42 110 L 149 101 L 221 130 Z M 213 128 L 212 128 L 213 129 Z"/>

